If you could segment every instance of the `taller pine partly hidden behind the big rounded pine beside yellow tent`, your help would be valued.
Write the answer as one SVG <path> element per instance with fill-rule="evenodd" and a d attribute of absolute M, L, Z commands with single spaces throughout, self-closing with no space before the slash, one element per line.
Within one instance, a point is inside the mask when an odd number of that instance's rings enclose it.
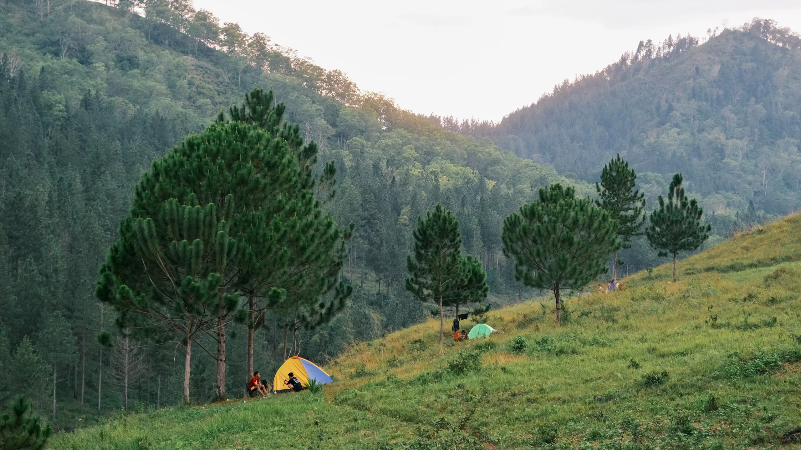
<path fill-rule="evenodd" d="M 272 90 L 265 93 L 257 87 L 245 95 L 242 106 L 229 109 L 232 121 L 255 125 L 273 139 L 283 140 L 295 155 L 300 171 L 297 194 L 301 200 L 292 205 L 292 222 L 284 228 L 284 234 L 277 234 L 277 228 L 269 223 L 248 231 L 253 235 L 251 242 L 262 243 L 241 265 L 247 272 L 242 277 L 242 289 L 248 298 L 248 373 L 253 372 L 255 331 L 264 323 L 268 310 L 283 310 L 284 315 L 291 315 L 293 331 L 313 329 L 339 312 L 351 294 L 351 287 L 340 282 L 339 274 L 353 225 L 340 230 L 330 215 L 322 213 L 317 200 L 326 191 L 330 191 L 327 199 L 333 198 L 336 168 L 328 163 L 320 178 L 314 178 L 317 146 L 313 141 L 304 145 L 300 128 L 284 122 L 286 107 L 283 103 L 273 106 L 274 98 Z M 220 113 L 217 123 L 224 122 Z M 274 241 L 284 243 L 285 251 L 272 251 Z M 333 295 L 324 299 L 328 292 Z"/>

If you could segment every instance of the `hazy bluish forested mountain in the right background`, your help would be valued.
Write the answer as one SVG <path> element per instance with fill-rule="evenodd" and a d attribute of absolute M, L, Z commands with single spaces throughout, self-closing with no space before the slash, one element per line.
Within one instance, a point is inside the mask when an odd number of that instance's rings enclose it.
<path fill-rule="evenodd" d="M 615 154 L 639 175 L 650 207 L 682 172 L 704 211 L 731 225 L 801 207 L 801 38 L 755 19 L 706 42 L 640 42 L 596 74 L 566 80 L 489 123 L 445 123 L 595 182 Z M 649 207 L 649 209 L 650 209 Z M 755 211 L 751 211 L 752 213 Z M 753 215 L 753 214 L 752 214 Z"/>

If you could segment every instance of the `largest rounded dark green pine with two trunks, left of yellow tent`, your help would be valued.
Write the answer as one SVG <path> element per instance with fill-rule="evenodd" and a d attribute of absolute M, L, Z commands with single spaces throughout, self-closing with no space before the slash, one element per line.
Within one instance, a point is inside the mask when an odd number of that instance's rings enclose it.
<path fill-rule="evenodd" d="M 119 324 L 185 345 L 187 401 L 191 345 L 203 331 L 217 341 L 215 396 L 225 398 L 227 323 L 248 314 L 240 295 L 284 298 L 297 247 L 304 257 L 333 253 L 322 266 L 343 257 L 330 251 L 343 233 L 320 211 L 288 140 L 238 121 L 188 137 L 143 175 L 101 269 L 98 296 Z M 322 309 L 336 311 L 341 297 Z"/>

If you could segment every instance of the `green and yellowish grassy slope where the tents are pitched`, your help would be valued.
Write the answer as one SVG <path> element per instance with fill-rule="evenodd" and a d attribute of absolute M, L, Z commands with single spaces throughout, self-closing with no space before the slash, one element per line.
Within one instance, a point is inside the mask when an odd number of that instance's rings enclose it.
<path fill-rule="evenodd" d="M 683 260 L 678 283 L 664 265 L 626 279 L 626 291 L 570 299 L 563 327 L 552 300 L 536 299 L 490 314 L 500 333 L 489 340 L 441 352 L 429 320 L 357 345 L 329 365 L 340 381 L 328 401 L 304 393 L 127 416 L 53 447 L 150 448 L 132 444 L 141 436 L 152 448 L 308 448 L 317 436 L 320 448 L 769 447 L 801 424 L 799 235 L 801 215 L 791 216 Z M 528 348 L 516 354 L 517 336 Z M 478 346 L 480 370 L 445 369 Z M 662 371 L 665 384 L 643 386 Z"/>

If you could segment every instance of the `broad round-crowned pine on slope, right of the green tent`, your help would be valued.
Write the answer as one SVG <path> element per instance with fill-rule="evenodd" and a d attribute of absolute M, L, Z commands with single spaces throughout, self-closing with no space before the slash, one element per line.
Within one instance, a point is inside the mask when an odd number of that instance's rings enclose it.
<path fill-rule="evenodd" d="M 553 291 L 561 324 L 561 291 L 581 289 L 609 270 L 606 258 L 620 248 L 618 223 L 589 199 L 576 199 L 573 187 L 552 184 L 539 197 L 504 220 L 503 251 L 515 260 L 517 281 Z"/>

